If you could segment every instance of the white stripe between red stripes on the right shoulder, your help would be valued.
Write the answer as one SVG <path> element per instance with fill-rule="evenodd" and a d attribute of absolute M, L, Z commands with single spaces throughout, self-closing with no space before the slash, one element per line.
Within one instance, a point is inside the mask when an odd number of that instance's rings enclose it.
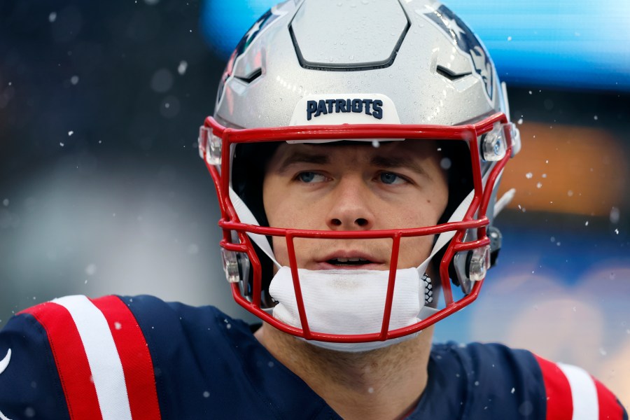
<path fill-rule="evenodd" d="M 573 420 L 598 420 L 597 388 L 591 375 L 581 367 L 558 363 L 571 387 Z"/>

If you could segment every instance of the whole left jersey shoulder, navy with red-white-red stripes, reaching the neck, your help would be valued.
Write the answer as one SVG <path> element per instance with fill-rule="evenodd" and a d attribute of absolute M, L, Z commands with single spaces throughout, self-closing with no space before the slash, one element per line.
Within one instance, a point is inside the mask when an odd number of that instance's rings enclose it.
<path fill-rule="evenodd" d="M 249 325 L 215 307 L 146 295 L 62 297 L 11 318 L 0 353 L 0 418 L 330 414 Z"/>

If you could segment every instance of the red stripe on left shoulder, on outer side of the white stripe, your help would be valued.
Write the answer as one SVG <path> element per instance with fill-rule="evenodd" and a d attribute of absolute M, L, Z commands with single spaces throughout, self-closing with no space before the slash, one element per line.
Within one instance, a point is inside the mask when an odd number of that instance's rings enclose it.
<path fill-rule="evenodd" d="M 46 331 L 70 419 L 102 419 L 90 365 L 70 312 L 59 304 L 46 302 L 21 313 L 34 316 Z"/>

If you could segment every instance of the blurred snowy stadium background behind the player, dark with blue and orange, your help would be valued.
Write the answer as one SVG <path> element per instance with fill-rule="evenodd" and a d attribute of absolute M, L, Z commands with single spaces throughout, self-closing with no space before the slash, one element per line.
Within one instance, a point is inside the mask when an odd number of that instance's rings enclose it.
<path fill-rule="evenodd" d="M 0 328 L 78 293 L 251 319 L 223 276 L 196 140 L 227 57 L 272 3 L 0 0 Z M 495 59 L 523 150 L 503 179 L 517 195 L 498 266 L 435 339 L 580 365 L 628 407 L 630 3 L 447 5 Z"/>

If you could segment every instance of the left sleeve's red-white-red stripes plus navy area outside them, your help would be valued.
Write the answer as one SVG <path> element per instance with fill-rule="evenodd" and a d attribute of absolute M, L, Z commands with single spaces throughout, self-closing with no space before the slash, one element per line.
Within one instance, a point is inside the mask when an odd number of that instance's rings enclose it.
<path fill-rule="evenodd" d="M 25 309 L 0 332 L 1 352 L 8 418 L 160 417 L 144 334 L 119 297 L 66 296 Z"/>

